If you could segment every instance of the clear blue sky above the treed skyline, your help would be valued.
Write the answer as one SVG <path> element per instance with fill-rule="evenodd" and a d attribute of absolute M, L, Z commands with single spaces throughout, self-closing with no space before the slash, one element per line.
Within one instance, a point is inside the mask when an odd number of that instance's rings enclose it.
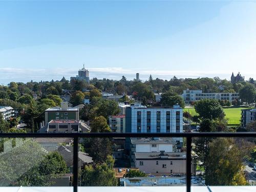
<path fill-rule="evenodd" d="M 91 77 L 256 79 L 256 3 L 0 2 L 0 84 Z"/>

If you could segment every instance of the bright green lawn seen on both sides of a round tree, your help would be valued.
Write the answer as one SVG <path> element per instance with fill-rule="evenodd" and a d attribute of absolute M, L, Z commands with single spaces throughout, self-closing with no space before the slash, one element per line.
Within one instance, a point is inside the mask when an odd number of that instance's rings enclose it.
<path fill-rule="evenodd" d="M 226 118 L 228 118 L 228 124 L 240 124 L 241 110 L 247 108 L 224 108 L 224 113 Z M 189 111 L 189 113 L 194 116 L 197 115 L 194 108 L 185 108 L 184 111 Z"/>

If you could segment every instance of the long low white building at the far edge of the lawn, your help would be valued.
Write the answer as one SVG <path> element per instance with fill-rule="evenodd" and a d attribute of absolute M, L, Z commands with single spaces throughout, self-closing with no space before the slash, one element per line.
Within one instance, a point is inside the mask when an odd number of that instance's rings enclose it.
<path fill-rule="evenodd" d="M 181 97 L 184 99 L 185 103 L 190 103 L 191 101 L 198 101 L 200 99 L 218 99 L 218 100 L 233 100 L 239 99 L 239 93 L 203 93 L 202 90 L 183 90 Z"/>

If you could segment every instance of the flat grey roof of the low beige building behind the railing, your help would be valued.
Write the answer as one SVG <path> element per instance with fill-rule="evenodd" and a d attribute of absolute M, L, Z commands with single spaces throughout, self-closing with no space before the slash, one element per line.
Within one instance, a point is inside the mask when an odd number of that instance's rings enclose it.
<path fill-rule="evenodd" d="M 167 158 L 160 158 L 159 152 L 135 152 L 135 158 L 136 159 L 148 159 L 148 160 L 156 160 L 156 159 L 186 159 L 186 153 L 183 152 L 169 152 L 164 153 Z M 165 157 L 166 157 L 165 156 Z"/>

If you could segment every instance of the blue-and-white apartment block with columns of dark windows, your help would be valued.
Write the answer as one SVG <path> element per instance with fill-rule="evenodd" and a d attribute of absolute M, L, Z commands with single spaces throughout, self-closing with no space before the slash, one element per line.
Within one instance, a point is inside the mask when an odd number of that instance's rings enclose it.
<path fill-rule="evenodd" d="M 125 109 L 126 133 L 182 133 L 183 109 L 179 105 L 143 106 L 131 104 Z M 182 138 L 174 138 L 182 142 Z"/>

